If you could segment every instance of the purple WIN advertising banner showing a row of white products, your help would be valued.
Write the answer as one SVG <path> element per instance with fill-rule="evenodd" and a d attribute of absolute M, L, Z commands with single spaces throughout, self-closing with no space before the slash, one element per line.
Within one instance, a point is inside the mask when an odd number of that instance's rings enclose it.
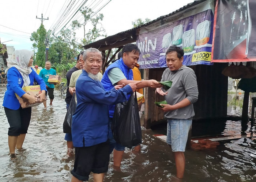
<path fill-rule="evenodd" d="M 172 45 L 184 50 L 184 65 L 212 65 L 213 8 L 212 0 L 204 1 L 142 27 L 136 40 L 140 68 L 167 67 L 165 52 Z"/>

